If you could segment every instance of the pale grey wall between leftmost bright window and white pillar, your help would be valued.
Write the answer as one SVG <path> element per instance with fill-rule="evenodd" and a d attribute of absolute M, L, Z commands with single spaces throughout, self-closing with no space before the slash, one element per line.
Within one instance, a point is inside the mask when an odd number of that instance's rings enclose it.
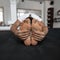
<path fill-rule="evenodd" d="M 10 20 L 10 3 L 9 0 L 0 0 L 0 7 L 4 8 L 4 22 L 7 24 L 7 20 Z"/>

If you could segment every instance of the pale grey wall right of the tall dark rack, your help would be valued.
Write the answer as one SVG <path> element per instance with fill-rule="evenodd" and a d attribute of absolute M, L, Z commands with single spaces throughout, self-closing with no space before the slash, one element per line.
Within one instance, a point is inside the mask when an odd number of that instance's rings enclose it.
<path fill-rule="evenodd" d="M 57 16 L 57 11 L 60 10 L 60 0 L 54 0 L 54 18 Z M 54 23 L 54 28 L 60 28 L 60 22 Z"/>

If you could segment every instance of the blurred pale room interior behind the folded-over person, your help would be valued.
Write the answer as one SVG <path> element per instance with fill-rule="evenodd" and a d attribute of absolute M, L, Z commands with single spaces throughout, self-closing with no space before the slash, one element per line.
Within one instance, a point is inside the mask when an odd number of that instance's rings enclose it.
<path fill-rule="evenodd" d="M 0 0 L 0 29 L 8 29 L 28 12 L 37 14 L 49 28 L 60 28 L 60 0 Z"/>

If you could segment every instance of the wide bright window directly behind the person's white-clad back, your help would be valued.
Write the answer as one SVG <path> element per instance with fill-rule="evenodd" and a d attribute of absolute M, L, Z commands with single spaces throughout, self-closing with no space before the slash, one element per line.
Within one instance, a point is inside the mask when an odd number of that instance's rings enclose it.
<path fill-rule="evenodd" d="M 17 18 L 19 18 L 20 16 L 24 15 L 25 13 L 35 13 L 38 16 L 42 17 L 42 12 L 41 10 L 30 10 L 30 9 L 17 9 Z"/>

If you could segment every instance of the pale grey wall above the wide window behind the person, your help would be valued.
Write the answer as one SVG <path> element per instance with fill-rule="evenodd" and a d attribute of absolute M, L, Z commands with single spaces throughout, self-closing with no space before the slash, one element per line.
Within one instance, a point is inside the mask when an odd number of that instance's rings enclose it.
<path fill-rule="evenodd" d="M 17 8 L 41 10 L 42 11 L 42 19 L 44 20 L 43 2 L 42 2 L 42 4 L 40 4 L 40 2 L 38 2 L 38 1 L 24 1 L 24 2 L 21 2 L 21 0 L 20 0 L 17 4 Z M 39 13 L 38 13 L 38 15 L 39 15 Z"/>

